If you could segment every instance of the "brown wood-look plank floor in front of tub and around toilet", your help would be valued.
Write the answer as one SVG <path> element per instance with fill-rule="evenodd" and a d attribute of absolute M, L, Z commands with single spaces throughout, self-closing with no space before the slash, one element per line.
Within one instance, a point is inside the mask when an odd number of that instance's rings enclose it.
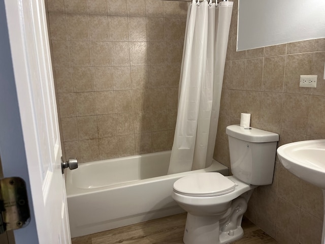
<path fill-rule="evenodd" d="M 186 213 L 72 238 L 72 244 L 182 244 Z M 244 236 L 232 244 L 278 243 L 247 219 Z M 200 243 L 198 243 L 200 244 Z"/>

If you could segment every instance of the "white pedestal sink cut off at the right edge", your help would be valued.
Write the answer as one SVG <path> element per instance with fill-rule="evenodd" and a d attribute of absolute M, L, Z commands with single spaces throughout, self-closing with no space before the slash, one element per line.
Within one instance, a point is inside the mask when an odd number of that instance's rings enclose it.
<path fill-rule="evenodd" d="M 284 144 L 277 149 L 277 154 L 287 170 L 322 189 L 324 223 L 321 244 L 325 244 L 325 140 Z"/>

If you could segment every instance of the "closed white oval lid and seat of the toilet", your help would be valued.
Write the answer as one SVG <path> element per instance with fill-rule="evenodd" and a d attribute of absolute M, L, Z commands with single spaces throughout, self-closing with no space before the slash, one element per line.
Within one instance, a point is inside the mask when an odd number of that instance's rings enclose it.
<path fill-rule="evenodd" d="M 178 194 L 193 197 L 220 196 L 235 190 L 234 181 L 217 172 L 195 173 L 184 176 L 174 183 Z"/>

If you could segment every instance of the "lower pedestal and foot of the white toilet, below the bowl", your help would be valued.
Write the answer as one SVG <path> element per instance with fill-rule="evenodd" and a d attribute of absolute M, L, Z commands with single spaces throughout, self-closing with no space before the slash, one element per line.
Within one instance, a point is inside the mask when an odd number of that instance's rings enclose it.
<path fill-rule="evenodd" d="M 225 244 L 244 235 L 242 227 L 228 232 L 219 231 L 220 216 L 194 216 L 187 213 L 183 241 L 185 244 Z"/>

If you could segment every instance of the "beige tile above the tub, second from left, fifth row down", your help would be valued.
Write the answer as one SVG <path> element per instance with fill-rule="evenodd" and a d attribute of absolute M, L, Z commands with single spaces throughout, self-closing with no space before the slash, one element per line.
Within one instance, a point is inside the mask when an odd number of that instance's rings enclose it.
<path fill-rule="evenodd" d="M 77 116 L 95 114 L 95 101 L 93 93 L 75 93 L 74 95 Z"/>

